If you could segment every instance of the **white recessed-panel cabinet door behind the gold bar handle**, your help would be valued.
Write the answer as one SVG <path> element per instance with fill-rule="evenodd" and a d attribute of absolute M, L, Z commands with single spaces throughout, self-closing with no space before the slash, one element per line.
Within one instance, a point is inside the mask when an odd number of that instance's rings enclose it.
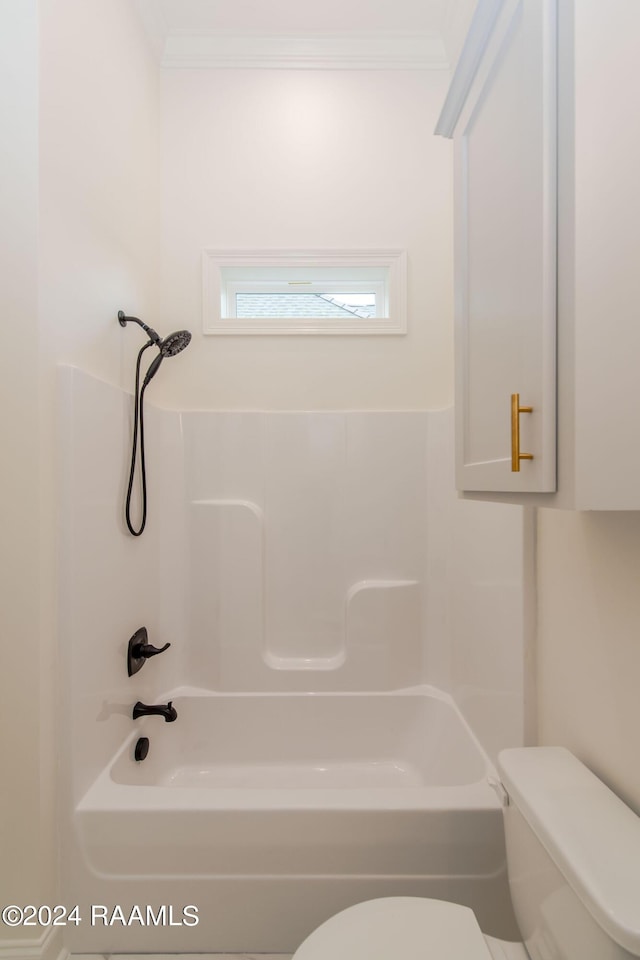
<path fill-rule="evenodd" d="M 482 4 L 481 4 L 482 6 Z M 555 0 L 494 20 L 455 128 L 457 482 L 556 488 Z M 511 396 L 521 452 L 512 469 Z"/>

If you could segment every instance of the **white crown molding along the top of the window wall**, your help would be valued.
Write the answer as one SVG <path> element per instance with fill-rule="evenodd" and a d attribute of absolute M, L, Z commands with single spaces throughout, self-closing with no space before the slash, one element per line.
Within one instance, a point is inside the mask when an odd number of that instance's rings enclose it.
<path fill-rule="evenodd" d="M 160 64 L 167 69 L 448 69 L 435 31 L 314 37 L 170 31 Z"/>

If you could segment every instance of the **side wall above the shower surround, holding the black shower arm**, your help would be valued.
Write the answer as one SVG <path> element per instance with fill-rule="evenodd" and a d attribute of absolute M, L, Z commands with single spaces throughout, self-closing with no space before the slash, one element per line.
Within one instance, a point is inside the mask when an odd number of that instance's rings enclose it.
<path fill-rule="evenodd" d="M 41 0 L 40 33 L 46 358 L 132 389 L 144 335 L 116 314 L 154 326 L 159 71 L 128 0 Z"/>

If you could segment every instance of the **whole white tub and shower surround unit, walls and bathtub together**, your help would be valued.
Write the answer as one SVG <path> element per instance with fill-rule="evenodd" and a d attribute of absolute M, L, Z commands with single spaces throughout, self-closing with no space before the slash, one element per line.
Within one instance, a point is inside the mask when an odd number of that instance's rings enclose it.
<path fill-rule="evenodd" d="M 131 397 L 61 368 L 60 399 L 64 902 L 200 915 L 72 948 L 290 951 L 394 892 L 508 935 L 487 776 L 522 742 L 523 516 L 456 502 L 450 413 L 149 404 L 136 541 Z M 172 646 L 128 678 L 142 625 Z M 174 724 L 131 718 L 169 698 Z"/>

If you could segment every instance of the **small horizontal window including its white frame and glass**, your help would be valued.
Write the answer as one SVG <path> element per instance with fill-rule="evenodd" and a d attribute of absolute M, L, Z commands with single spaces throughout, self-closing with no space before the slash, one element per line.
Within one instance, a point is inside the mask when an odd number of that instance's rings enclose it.
<path fill-rule="evenodd" d="M 203 284 L 205 333 L 406 333 L 399 250 L 205 250 Z"/>

